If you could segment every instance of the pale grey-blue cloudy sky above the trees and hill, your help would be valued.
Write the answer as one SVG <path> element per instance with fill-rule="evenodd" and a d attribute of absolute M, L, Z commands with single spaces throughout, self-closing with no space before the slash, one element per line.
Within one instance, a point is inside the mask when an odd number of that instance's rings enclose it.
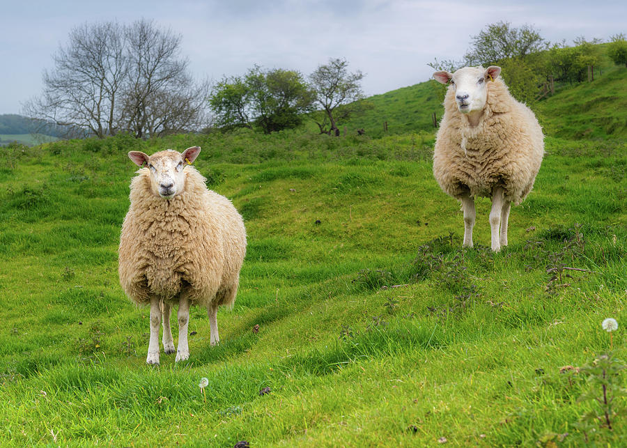
<path fill-rule="evenodd" d="M 183 36 L 198 78 L 254 64 L 311 73 L 331 57 L 362 70 L 366 95 L 426 81 L 434 58 L 461 59 L 487 24 L 530 24 L 551 42 L 627 34 L 627 1 L 109 0 L 10 1 L 0 6 L 0 114 L 38 95 L 45 68 L 85 22 L 141 17 Z"/>

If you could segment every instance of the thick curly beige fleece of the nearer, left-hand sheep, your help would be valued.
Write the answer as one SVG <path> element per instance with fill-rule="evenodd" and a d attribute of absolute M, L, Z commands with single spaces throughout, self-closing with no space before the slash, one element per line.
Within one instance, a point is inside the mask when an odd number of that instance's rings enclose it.
<path fill-rule="evenodd" d="M 242 217 L 229 199 L 185 167 L 185 190 L 162 199 L 150 190 L 150 170 L 137 171 L 118 251 L 120 284 L 136 304 L 150 295 L 172 301 L 185 292 L 196 304 L 235 299 L 246 252 Z"/>

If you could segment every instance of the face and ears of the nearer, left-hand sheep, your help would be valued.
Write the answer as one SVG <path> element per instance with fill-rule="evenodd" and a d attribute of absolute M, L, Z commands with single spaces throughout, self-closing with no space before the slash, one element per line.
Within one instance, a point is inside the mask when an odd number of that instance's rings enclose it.
<path fill-rule="evenodd" d="M 168 149 L 150 156 L 141 151 L 131 151 L 128 157 L 138 167 L 146 164 L 150 169 L 150 186 L 155 196 L 172 199 L 185 190 L 184 169 L 196 160 L 200 150 L 200 146 L 193 146 L 183 153 Z"/>

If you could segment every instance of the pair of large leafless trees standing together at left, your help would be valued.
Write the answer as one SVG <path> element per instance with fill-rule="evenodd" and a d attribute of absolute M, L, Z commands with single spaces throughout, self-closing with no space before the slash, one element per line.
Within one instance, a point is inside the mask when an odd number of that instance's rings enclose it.
<path fill-rule="evenodd" d="M 187 72 L 180 42 L 180 35 L 147 20 L 79 26 L 54 55 L 43 94 L 24 105 L 24 114 L 100 138 L 202 128 L 208 85 Z"/>

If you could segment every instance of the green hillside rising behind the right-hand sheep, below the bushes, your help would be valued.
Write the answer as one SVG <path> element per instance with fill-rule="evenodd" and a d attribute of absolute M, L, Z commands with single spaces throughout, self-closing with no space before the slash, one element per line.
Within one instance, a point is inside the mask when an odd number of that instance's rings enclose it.
<path fill-rule="evenodd" d="M 627 138 L 627 69 L 616 66 L 599 45 L 601 63 L 594 82 L 558 84 L 553 96 L 530 105 L 545 134 L 567 139 Z M 346 125 L 372 137 L 407 132 L 435 132 L 432 114 L 442 118 L 443 88 L 430 80 L 398 88 L 368 100 L 373 108 Z M 388 130 L 384 131 L 383 123 Z"/>

